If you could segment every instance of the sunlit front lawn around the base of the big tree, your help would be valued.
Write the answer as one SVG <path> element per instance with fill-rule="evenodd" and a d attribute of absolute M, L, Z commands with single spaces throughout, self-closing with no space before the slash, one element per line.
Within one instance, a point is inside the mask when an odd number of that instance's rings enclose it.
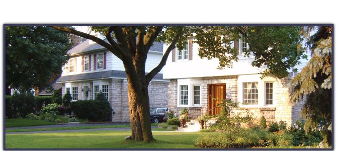
<path fill-rule="evenodd" d="M 6 148 L 199 148 L 193 143 L 198 132 L 152 132 L 156 142 L 151 143 L 125 140 L 130 135 L 118 130 L 6 134 Z"/>

